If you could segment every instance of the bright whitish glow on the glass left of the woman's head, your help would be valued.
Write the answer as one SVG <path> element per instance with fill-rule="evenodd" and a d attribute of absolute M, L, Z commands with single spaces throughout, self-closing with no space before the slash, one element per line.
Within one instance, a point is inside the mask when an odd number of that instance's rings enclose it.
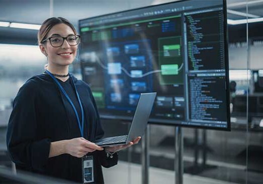
<path fill-rule="evenodd" d="M 38 46 L 0 44 L 0 111 L 9 109 L 19 88 L 46 64 Z"/>

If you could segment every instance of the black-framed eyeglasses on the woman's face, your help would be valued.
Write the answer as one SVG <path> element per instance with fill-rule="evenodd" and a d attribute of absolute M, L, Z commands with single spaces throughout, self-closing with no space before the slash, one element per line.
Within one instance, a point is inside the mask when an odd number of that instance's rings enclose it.
<path fill-rule="evenodd" d="M 69 35 L 67 37 L 53 36 L 43 40 L 42 43 L 49 40 L 52 47 L 61 47 L 65 39 L 67 40 L 70 46 L 75 46 L 79 44 L 80 36 L 79 35 Z"/>

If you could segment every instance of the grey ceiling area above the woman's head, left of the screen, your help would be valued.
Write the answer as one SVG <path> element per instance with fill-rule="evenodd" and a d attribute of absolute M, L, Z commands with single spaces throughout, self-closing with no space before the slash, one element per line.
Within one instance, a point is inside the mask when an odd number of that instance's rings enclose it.
<path fill-rule="evenodd" d="M 153 0 L 54 0 L 53 2 L 53 16 L 64 17 L 77 26 L 80 19 L 149 6 Z M 49 17 L 49 0 L 0 0 L 0 21 L 42 24 Z"/>

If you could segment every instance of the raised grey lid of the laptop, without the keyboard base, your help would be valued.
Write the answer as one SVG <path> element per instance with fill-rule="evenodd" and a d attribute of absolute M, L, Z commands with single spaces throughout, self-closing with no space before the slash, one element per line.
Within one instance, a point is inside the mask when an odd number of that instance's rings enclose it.
<path fill-rule="evenodd" d="M 144 135 L 148 119 L 154 105 L 155 97 L 156 92 L 141 93 L 133 121 L 131 122 L 131 126 L 129 128 L 126 143 L 133 141 L 138 136 Z"/>

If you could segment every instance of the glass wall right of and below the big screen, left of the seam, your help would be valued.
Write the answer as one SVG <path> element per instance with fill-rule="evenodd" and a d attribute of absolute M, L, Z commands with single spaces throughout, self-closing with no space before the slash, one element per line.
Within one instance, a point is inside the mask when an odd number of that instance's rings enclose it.
<path fill-rule="evenodd" d="M 246 109 L 249 107 L 246 96 L 252 88 L 253 74 L 248 67 L 246 23 L 236 24 L 240 19 L 246 20 L 246 3 L 245 0 L 227 1 L 231 131 L 183 128 L 185 183 L 198 183 L 196 178 L 209 183 L 252 181 L 247 177 L 249 116 Z M 151 125 L 150 131 L 150 165 L 174 170 L 174 127 Z"/>

